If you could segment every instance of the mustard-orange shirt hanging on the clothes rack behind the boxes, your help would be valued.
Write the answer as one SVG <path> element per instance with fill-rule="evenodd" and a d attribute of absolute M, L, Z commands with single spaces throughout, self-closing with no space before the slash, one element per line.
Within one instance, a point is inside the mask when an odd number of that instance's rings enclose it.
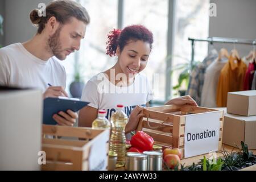
<path fill-rule="evenodd" d="M 216 97 L 218 107 L 226 107 L 228 92 L 243 90 L 246 68 L 246 64 L 241 59 L 229 57 L 229 61 L 222 68 L 218 79 Z"/>

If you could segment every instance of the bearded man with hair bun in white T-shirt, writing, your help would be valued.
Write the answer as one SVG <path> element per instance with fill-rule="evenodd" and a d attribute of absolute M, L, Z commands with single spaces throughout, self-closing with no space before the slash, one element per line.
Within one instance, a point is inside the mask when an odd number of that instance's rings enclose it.
<path fill-rule="evenodd" d="M 36 35 L 0 49 L 0 85 L 40 88 L 44 98 L 68 97 L 65 69 L 53 56 L 65 60 L 79 50 L 89 14 L 76 2 L 53 1 L 46 7 L 46 16 L 32 10 L 30 19 L 38 27 Z M 59 125 L 65 126 L 73 126 L 77 117 L 71 110 L 53 115 Z"/>

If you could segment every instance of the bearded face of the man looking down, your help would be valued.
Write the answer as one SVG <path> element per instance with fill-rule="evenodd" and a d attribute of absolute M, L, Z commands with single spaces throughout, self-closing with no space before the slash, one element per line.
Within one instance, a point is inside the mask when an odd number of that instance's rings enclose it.
<path fill-rule="evenodd" d="M 85 31 L 86 24 L 76 18 L 71 18 L 69 23 L 60 26 L 48 39 L 48 46 L 53 55 L 64 60 L 70 53 L 78 51 Z"/>

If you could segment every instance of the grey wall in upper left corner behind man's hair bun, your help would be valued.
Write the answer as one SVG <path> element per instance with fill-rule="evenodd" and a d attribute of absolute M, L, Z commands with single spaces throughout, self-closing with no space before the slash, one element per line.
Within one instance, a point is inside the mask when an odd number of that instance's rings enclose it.
<path fill-rule="evenodd" d="M 30 12 L 38 8 L 39 3 L 49 2 L 51 1 L 5 0 L 5 46 L 31 39 L 35 35 L 36 27 L 33 27 L 30 22 Z"/>

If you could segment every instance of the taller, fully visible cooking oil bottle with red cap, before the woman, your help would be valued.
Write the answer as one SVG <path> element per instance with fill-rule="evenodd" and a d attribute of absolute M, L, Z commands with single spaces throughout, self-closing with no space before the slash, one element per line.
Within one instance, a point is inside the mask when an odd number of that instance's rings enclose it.
<path fill-rule="evenodd" d="M 123 105 L 117 105 L 117 111 L 111 117 L 112 133 L 109 141 L 109 150 L 117 153 L 115 167 L 125 166 L 125 126 L 127 115 L 122 111 Z"/>

